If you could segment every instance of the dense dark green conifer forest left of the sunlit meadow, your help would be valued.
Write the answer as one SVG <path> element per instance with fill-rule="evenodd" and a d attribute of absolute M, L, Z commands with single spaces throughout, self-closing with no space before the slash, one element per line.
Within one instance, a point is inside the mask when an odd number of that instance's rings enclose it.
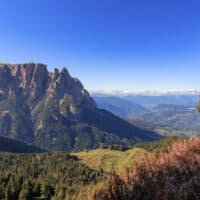
<path fill-rule="evenodd" d="M 0 199 L 75 198 L 103 178 L 67 153 L 0 153 Z"/>

